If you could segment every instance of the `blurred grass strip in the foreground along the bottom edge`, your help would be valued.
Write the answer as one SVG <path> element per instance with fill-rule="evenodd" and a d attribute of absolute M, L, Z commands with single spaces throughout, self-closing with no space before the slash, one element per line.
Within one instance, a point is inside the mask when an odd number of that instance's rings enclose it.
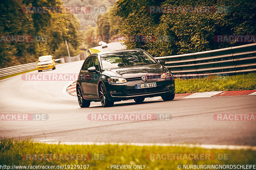
<path fill-rule="evenodd" d="M 26 153 L 96 153 L 104 154 L 103 160 L 24 160 Z M 227 160 L 149 160 L 148 153 L 221 153 L 228 154 Z M 132 146 L 132 145 L 62 145 L 34 143 L 30 140 L 2 139 L 0 143 L 0 165 L 20 166 L 58 166 L 58 165 L 90 165 L 89 169 L 110 169 L 112 164 L 120 165 L 146 165 L 146 169 L 164 170 L 177 169 L 178 165 L 253 165 L 256 152 L 251 150 L 217 150 L 199 147 L 173 147 L 173 146 Z M 109 168 L 107 168 L 109 167 Z M 149 168 L 147 168 L 149 167 Z"/>

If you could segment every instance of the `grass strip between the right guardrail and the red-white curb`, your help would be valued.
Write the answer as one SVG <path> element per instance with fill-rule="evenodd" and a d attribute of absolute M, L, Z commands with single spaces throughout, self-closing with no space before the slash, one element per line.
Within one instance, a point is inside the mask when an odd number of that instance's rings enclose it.
<path fill-rule="evenodd" d="M 256 73 L 206 78 L 175 79 L 176 93 L 256 90 Z"/>

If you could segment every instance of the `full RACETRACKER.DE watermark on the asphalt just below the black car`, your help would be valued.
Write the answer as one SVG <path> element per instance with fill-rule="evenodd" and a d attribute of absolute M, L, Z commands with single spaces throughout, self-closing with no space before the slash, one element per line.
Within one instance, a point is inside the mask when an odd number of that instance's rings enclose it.
<path fill-rule="evenodd" d="M 90 121 L 170 121 L 172 114 L 88 114 Z"/>

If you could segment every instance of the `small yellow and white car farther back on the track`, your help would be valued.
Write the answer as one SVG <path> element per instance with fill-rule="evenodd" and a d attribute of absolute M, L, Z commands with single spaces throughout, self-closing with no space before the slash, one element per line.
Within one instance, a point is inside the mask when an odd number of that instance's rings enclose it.
<path fill-rule="evenodd" d="M 55 61 L 52 55 L 40 56 L 36 63 L 37 63 L 38 72 L 42 70 L 47 70 L 47 69 L 52 69 L 52 70 L 55 69 Z"/>

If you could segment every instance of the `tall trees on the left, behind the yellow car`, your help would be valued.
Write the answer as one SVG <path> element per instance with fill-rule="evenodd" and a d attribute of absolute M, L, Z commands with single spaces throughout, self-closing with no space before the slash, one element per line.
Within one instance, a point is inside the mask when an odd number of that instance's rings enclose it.
<path fill-rule="evenodd" d="M 74 48 L 78 47 L 80 24 L 73 14 L 22 11 L 26 6 L 61 5 L 59 0 L 1 1 L 0 35 L 32 36 L 33 41 L 0 42 L 0 68 L 35 62 L 41 55 L 54 56 L 55 50 L 65 40 Z M 66 48 L 63 50 L 67 51 Z"/>

